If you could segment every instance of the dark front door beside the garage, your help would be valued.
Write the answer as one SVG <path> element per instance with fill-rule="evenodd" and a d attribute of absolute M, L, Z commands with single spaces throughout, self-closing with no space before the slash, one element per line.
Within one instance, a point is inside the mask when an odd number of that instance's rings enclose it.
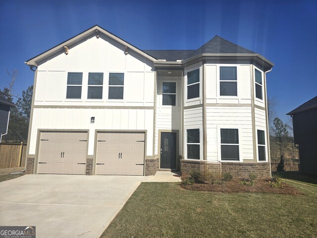
<path fill-rule="evenodd" d="M 160 134 L 160 168 L 176 169 L 176 133 Z"/>

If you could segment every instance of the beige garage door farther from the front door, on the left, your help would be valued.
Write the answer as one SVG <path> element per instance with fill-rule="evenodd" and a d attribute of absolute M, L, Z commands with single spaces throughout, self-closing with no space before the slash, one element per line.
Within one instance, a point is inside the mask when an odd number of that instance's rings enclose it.
<path fill-rule="evenodd" d="M 38 174 L 84 175 L 87 132 L 41 132 Z"/>

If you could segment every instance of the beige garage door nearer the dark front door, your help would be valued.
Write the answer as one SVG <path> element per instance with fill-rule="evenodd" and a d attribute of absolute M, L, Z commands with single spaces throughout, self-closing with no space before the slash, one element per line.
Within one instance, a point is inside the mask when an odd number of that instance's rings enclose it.
<path fill-rule="evenodd" d="M 99 132 L 97 175 L 143 175 L 144 133 Z"/>

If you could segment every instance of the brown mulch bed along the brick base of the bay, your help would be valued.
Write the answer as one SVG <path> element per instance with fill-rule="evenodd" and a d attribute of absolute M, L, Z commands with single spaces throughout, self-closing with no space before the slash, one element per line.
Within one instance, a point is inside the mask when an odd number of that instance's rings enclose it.
<path fill-rule="evenodd" d="M 194 183 L 193 185 L 180 186 L 184 189 L 193 191 L 209 191 L 209 192 L 260 192 L 260 193 L 276 193 L 276 194 L 289 194 L 289 195 L 304 195 L 295 187 L 283 183 L 283 188 L 271 187 L 269 179 L 257 179 L 253 186 L 241 185 L 241 179 L 232 179 L 231 181 L 222 184 L 209 184 L 209 183 Z"/>

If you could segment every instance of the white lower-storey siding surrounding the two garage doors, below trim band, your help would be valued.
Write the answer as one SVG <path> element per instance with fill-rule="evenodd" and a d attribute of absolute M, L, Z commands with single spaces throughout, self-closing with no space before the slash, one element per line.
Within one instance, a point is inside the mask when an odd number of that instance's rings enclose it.
<path fill-rule="evenodd" d="M 90 123 L 91 117 L 95 117 L 95 123 Z M 88 130 L 88 155 L 94 154 L 95 130 L 147 130 L 147 155 L 153 154 L 153 110 L 36 108 L 33 112 L 30 154 L 36 153 L 38 129 Z"/>

